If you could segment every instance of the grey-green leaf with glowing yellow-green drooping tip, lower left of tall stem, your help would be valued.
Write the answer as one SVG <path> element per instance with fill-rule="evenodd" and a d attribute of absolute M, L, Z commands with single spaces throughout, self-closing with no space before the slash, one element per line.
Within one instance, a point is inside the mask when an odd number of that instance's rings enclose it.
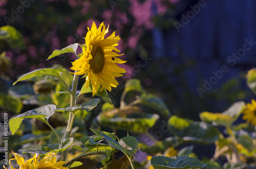
<path fill-rule="evenodd" d="M 14 134 L 15 131 L 19 128 L 20 123 L 22 123 L 24 118 L 35 118 L 37 120 L 40 120 L 48 124 L 48 119 L 54 114 L 55 109 L 56 109 L 56 106 L 54 104 L 49 104 L 49 105 L 38 107 L 33 110 L 26 111 L 23 114 L 10 119 L 9 125 L 10 125 L 10 130 L 12 134 Z"/>

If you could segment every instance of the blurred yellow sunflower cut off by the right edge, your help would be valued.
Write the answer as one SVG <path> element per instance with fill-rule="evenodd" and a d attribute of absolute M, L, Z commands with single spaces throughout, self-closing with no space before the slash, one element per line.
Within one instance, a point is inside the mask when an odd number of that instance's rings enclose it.
<path fill-rule="evenodd" d="M 243 119 L 247 120 L 247 123 L 251 123 L 253 125 L 256 125 L 256 101 L 251 100 L 251 104 L 248 103 L 247 107 L 243 111 Z"/>

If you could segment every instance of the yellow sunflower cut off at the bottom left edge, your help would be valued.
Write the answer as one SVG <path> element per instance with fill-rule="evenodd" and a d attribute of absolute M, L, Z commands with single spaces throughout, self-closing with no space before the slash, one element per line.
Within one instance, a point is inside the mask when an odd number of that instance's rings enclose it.
<path fill-rule="evenodd" d="M 41 159 L 41 161 L 39 160 L 39 154 L 36 153 L 34 155 L 33 158 L 30 158 L 29 160 L 25 160 L 23 158 L 22 155 L 18 154 L 18 153 L 14 153 L 12 152 L 12 154 L 14 155 L 14 158 L 10 159 L 9 163 L 12 169 L 15 169 L 12 165 L 11 165 L 11 160 L 16 160 L 18 165 L 19 165 L 19 169 L 68 169 L 68 167 L 63 167 L 62 165 L 65 164 L 68 161 L 59 161 L 57 162 L 58 158 L 60 156 L 56 155 L 55 153 L 50 153 L 47 156 L 45 156 L 44 158 Z M 5 169 L 7 169 L 4 166 Z"/>

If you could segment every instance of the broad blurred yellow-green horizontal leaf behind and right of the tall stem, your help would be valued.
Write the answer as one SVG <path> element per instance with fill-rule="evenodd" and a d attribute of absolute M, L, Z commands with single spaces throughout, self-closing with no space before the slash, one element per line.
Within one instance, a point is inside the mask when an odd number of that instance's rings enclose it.
<path fill-rule="evenodd" d="M 132 131 L 137 133 L 147 133 L 148 129 L 153 127 L 158 120 L 158 115 L 151 118 L 105 118 L 99 116 L 99 123 L 118 130 Z"/>

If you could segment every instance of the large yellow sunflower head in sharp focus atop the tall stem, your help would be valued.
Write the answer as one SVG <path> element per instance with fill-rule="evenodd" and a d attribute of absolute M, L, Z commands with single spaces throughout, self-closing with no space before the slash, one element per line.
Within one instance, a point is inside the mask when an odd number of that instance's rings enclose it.
<path fill-rule="evenodd" d="M 119 36 L 115 36 L 115 32 L 109 37 L 105 38 L 105 34 L 109 32 L 109 27 L 105 29 L 102 22 L 97 28 L 93 22 L 91 30 L 88 27 L 86 35 L 86 46 L 82 45 L 81 57 L 72 63 L 73 67 L 70 69 L 75 70 L 74 74 L 86 77 L 86 88 L 92 84 L 93 96 L 97 93 L 99 85 L 102 90 L 106 89 L 111 92 L 111 87 L 118 85 L 115 77 L 120 77 L 126 71 L 116 64 L 122 64 L 122 61 L 117 58 L 122 54 L 117 54 L 115 51 L 120 52 L 115 46 L 120 40 Z"/>

